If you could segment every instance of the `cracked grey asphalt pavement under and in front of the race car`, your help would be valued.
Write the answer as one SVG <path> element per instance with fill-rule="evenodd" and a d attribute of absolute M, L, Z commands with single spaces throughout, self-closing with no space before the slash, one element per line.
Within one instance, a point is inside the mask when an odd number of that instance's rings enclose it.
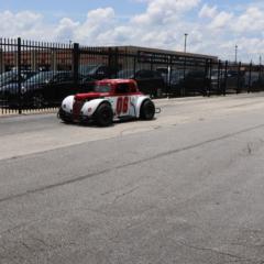
<path fill-rule="evenodd" d="M 0 118 L 0 263 L 263 264 L 263 99 L 163 99 L 106 129 Z"/>

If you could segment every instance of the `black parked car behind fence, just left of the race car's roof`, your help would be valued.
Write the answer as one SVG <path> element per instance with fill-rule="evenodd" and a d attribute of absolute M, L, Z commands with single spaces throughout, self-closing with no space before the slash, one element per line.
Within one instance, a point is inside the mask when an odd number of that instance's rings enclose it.
<path fill-rule="evenodd" d="M 89 91 L 95 81 L 85 81 L 78 76 L 80 86 L 75 85 L 72 72 L 42 72 L 23 82 L 21 92 L 26 106 L 42 108 L 58 106 L 63 98 L 73 92 Z"/>

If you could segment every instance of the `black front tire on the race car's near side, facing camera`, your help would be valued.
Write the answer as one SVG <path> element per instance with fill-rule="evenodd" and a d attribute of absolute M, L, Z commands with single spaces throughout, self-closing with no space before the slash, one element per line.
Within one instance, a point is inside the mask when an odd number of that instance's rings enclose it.
<path fill-rule="evenodd" d="M 111 125 L 113 121 L 113 111 L 111 106 L 108 103 L 101 103 L 95 113 L 95 121 L 99 127 Z"/>

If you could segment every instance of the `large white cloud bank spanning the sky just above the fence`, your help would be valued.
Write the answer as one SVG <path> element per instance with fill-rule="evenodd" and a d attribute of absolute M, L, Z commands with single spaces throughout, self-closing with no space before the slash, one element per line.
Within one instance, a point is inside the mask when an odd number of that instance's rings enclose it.
<path fill-rule="evenodd" d="M 1 36 L 63 43 L 70 40 L 89 46 L 140 45 L 183 51 L 184 33 L 188 33 L 188 52 L 233 59 L 238 44 L 241 59 L 253 57 L 257 61 L 258 54 L 264 53 L 262 6 L 252 3 L 238 11 L 200 0 L 141 1 L 146 2 L 145 11 L 125 21 L 112 8 L 90 10 L 84 21 L 65 16 L 53 23 L 36 12 L 0 12 Z"/>

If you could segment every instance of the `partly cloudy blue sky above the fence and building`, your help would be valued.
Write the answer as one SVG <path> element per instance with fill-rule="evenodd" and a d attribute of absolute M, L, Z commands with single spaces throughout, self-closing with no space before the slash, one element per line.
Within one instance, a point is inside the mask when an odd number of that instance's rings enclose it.
<path fill-rule="evenodd" d="M 264 59 L 264 0 L 0 0 L 0 37 Z"/>

